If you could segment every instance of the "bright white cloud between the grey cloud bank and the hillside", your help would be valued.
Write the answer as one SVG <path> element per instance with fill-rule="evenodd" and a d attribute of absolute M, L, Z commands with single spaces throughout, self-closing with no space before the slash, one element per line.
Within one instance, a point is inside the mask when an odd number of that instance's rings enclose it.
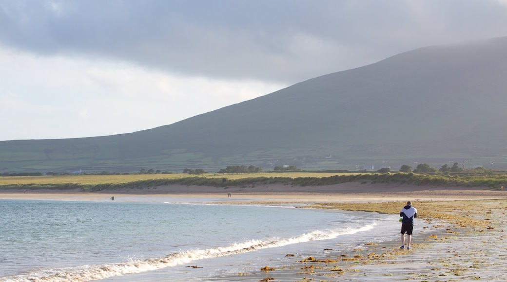
<path fill-rule="evenodd" d="M 128 133 L 287 86 L 178 76 L 127 62 L 34 56 L 5 49 L 0 49 L 0 62 L 0 117 L 10 121 L 0 124 L 3 139 Z"/>

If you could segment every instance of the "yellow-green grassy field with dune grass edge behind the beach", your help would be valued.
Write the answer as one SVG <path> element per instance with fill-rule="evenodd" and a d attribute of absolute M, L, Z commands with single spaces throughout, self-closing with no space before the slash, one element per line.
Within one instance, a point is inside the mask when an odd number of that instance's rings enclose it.
<path fill-rule="evenodd" d="M 417 173 L 328 173 L 328 172 L 261 172 L 245 174 L 205 173 L 203 175 L 117 174 L 1 176 L 0 189 L 77 189 L 103 190 L 125 187 L 151 187 L 171 184 L 203 186 L 245 186 L 258 183 L 284 183 L 299 186 L 332 185 L 345 182 L 403 183 L 412 185 L 467 186 L 503 189 L 507 175 L 425 175 Z"/>

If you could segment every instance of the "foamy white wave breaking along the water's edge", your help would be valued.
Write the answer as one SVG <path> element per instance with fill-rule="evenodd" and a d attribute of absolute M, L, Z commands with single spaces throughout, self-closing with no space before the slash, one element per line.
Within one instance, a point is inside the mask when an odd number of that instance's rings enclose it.
<path fill-rule="evenodd" d="M 59 281 L 100 280 L 111 278 L 114 276 L 140 273 L 176 265 L 188 264 L 193 261 L 206 258 L 216 258 L 242 254 L 266 248 L 282 247 L 291 244 L 305 243 L 311 240 L 334 239 L 340 235 L 354 234 L 357 232 L 370 230 L 374 228 L 375 225 L 376 223 L 372 223 L 359 228 L 342 228 L 325 231 L 314 230 L 292 238 L 271 239 L 264 241 L 251 240 L 242 243 L 232 244 L 225 247 L 197 249 L 181 253 L 173 253 L 159 258 L 148 258 L 142 260 L 130 259 L 129 261 L 115 264 L 98 264 L 98 265 L 83 265 L 69 268 L 52 268 L 30 272 L 23 275 L 0 277 L 0 280 L 5 282 L 21 282 L 21 281 L 59 282 Z"/>

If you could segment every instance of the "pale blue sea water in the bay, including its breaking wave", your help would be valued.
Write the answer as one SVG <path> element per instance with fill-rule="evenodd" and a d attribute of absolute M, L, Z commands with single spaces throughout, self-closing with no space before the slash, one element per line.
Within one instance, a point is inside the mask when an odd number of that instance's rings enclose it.
<path fill-rule="evenodd" d="M 227 280 L 399 237 L 397 215 L 179 201 L 0 200 L 0 281 Z"/>

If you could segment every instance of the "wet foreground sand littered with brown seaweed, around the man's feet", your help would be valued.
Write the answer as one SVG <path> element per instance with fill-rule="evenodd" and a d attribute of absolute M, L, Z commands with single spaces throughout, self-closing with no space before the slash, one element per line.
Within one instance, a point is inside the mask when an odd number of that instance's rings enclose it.
<path fill-rule="evenodd" d="M 385 204 L 385 205 L 384 205 Z M 390 210 L 391 203 L 380 203 Z M 399 204 L 399 203 L 394 203 Z M 442 209 L 441 219 L 416 220 L 423 225 L 412 237 L 412 249 L 400 241 L 356 242 L 350 252 L 329 246 L 287 259 L 271 271 L 238 274 L 239 281 L 505 281 L 507 223 L 505 200 L 414 202 L 419 213 Z M 345 203 L 344 207 L 348 204 Z M 364 205 L 364 204 L 362 204 Z M 338 205 L 336 207 L 340 207 Z M 447 207 L 447 208 L 443 208 Z M 348 208 L 347 208 L 348 209 Z M 350 209 L 354 209 L 353 207 Z M 382 208 L 381 208 L 382 209 Z M 401 209 L 401 208 L 400 208 Z M 398 237 L 398 236 L 396 236 Z M 267 264 L 269 267 L 269 263 Z M 247 276 L 247 277 L 244 277 Z M 234 277 L 230 277 L 234 278 Z"/>

